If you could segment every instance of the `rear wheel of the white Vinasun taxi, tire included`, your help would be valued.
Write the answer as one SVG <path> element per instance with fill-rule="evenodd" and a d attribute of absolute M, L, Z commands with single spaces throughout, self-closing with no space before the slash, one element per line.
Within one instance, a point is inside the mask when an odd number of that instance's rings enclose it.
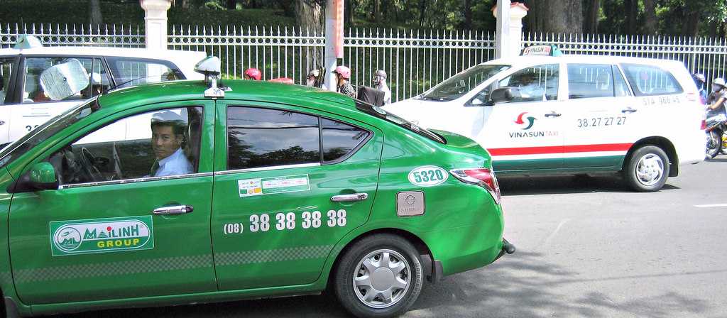
<path fill-rule="evenodd" d="M 669 177 L 669 158 L 662 148 L 639 147 L 629 157 L 624 174 L 630 187 L 636 191 L 658 191 Z"/>

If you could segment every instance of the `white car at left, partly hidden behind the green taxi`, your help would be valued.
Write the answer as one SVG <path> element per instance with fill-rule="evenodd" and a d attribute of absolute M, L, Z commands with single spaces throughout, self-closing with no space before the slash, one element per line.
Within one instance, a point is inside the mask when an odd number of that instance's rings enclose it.
<path fill-rule="evenodd" d="M 20 139 L 35 127 L 111 89 L 141 83 L 203 79 L 194 65 L 204 52 L 153 51 L 110 47 L 32 47 L 0 49 L 0 146 Z M 80 91 L 63 99 L 44 91 L 41 74 L 68 63 L 83 65 Z M 73 63 L 69 63 L 73 62 Z"/>

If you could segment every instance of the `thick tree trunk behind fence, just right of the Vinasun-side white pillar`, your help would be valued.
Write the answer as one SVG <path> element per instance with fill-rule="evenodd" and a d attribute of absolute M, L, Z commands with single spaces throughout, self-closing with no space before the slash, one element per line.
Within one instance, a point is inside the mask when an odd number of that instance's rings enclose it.
<path fill-rule="evenodd" d="M 583 33 L 581 0 L 543 1 L 547 10 L 545 31 L 552 33 Z"/>

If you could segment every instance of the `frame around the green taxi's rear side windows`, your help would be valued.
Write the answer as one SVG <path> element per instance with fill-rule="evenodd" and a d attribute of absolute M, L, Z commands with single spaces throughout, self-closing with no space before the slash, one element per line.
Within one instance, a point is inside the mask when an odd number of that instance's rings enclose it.
<path fill-rule="evenodd" d="M 219 171 L 214 171 L 215 175 L 220 174 L 236 174 L 241 172 L 249 172 L 249 171 L 268 171 L 268 170 L 278 170 L 278 169 L 285 169 L 285 168 L 301 168 L 301 167 L 318 167 L 318 166 L 332 166 L 338 163 L 342 163 L 345 160 L 348 160 L 353 155 L 356 155 L 356 152 L 358 150 L 361 150 L 362 147 L 364 147 L 366 144 L 368 144 L 371 139 L 374 138 L 374 135 L 376 134 L 376 131 L 374 129 L 366 128 L 364 125 L 365 123 L 358 123 L 353 118 L 348 118 L 342 115 L 327 113 L 322 110 L 316 110 L 313 108 L 308 107 L 302 107 L 300 105 L 289 105 L 284 103 L 268 103 L 268 102 L 254 102 L 254 101 L 248 101 L 248 100 L 228 100 L 224 104 L 222 104 L 222 107 L 224 109 L 222 110 L 222 113 L 220 113 L 220 123 L 222 123 L 222 127 L 220 128 L 219 134 L 224 134 L 224 158 L 221 158 L 220 160 L 223 161 L 223 167 Z M 230 168 L 229 166 L 229 155 L 230 155 L 230 142 L 228 139 L 228 109 L 230 107 L 249 107 L 249 108 L 260 108 L 265 110 L 281 110 L 281 111 L 287 111 L 292 113 L 299 113 L 302 115 L 308 115 L 318 118 L 318 162 L 316 163 L 294 163 L 294 164 L 285 164 L 285 165 L 278 165 L 278 166 L 265 166 L 265 167 L 254 167 L 254 168 Z M 329 121 L 337 121 L 340 123 L 344 123 L 348 126 L 353 126 L 357 129 L 362 129 L 364 131 L 367 131 L 369 134 L 366 136 L 366 139 L 359 142 L 356 147 L 353 147 L 346 155 L 343 155 L 340 158 L 337 158 L 336 160 L 330 160 L 330 161 L 324 161 L 324 153 L 323 153 L 323 126 L 321 126 L 321 121 L 323 119 L 327 119 Z M 356 123 L 353 123 L 353 121 L 356 121 Z M 220 137 L 220 135 L 217 135 L 217 137 Z"/>

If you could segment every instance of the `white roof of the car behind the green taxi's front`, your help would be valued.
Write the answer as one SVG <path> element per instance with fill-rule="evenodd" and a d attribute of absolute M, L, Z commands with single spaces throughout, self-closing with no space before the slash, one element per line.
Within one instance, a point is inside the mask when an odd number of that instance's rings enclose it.
<path fill-rule="evenodd" d="M 101 55 L 107 57 L 144 57 L 157 60 L 169 60 L 169 54 L 174 57 L 199 57 L 200 53 L 105 46 L 44 46 L 30 49 L 0 49 L 0 55 Z"/>

